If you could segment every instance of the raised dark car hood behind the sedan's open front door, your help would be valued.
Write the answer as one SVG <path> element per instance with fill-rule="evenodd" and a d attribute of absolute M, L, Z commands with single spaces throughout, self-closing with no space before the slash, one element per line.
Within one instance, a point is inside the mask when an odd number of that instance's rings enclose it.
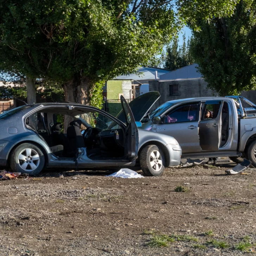
<path fill-rule="evenodd" d="M 161 95 L 158 91 L 150 91 L 132 100 L 129 103 L 129 107 L 132 110 L 135 121 L 140 122 L 160 97 Z M 126 122 L 123 110 L 119 112 L 116 118 L 123 123 Z"/>

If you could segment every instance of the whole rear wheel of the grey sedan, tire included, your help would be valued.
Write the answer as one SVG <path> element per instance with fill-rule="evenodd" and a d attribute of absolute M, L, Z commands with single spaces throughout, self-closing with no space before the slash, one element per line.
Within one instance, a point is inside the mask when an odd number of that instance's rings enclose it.
<path fill-rule="evenodd" d="M 32 143 L 23 143 L 16 147 L 10 156 L 13 172 L 39 174 L 44 168 L 45 156 L 41 149 Z"/>

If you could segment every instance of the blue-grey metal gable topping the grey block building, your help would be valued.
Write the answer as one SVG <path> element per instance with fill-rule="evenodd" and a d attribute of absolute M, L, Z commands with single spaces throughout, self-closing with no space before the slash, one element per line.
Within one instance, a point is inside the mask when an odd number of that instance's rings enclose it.
<path fill-rule="evenodd" d="M 194 63 L 192 65 L 185 66 L 181 69 L 176 69 L 174 71 L 165 73 L 159 76 L 161 80 L 174 80 L 174 79 L 190 79 L 190 78 L 201 78 L 202 74 L 197 72 L 198 64 Z"/>

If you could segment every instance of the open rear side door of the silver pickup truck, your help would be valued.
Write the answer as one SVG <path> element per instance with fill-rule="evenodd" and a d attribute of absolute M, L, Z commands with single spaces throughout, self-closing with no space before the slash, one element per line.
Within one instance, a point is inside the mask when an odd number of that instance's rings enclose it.
<path fill-rule="evenodd" d="M 221 141 L 221 110 L 223 101 L 206 101 L 201 109 L 199 122 L 200 147 L 206 151 L 218 151 Z M 206 113 L 209 113 L 207 116 Z"/>

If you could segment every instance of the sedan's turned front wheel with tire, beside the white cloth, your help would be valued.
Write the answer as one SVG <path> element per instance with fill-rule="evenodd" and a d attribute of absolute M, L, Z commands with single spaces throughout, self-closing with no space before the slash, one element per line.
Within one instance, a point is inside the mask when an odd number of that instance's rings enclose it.
<path fill-rule="evenodd" d="M 146 176 L 160 176 L 164 172 L 164 165 L 165 155 L 160 147 L 149 145 L 142 149 L 140 166 Z"/>

